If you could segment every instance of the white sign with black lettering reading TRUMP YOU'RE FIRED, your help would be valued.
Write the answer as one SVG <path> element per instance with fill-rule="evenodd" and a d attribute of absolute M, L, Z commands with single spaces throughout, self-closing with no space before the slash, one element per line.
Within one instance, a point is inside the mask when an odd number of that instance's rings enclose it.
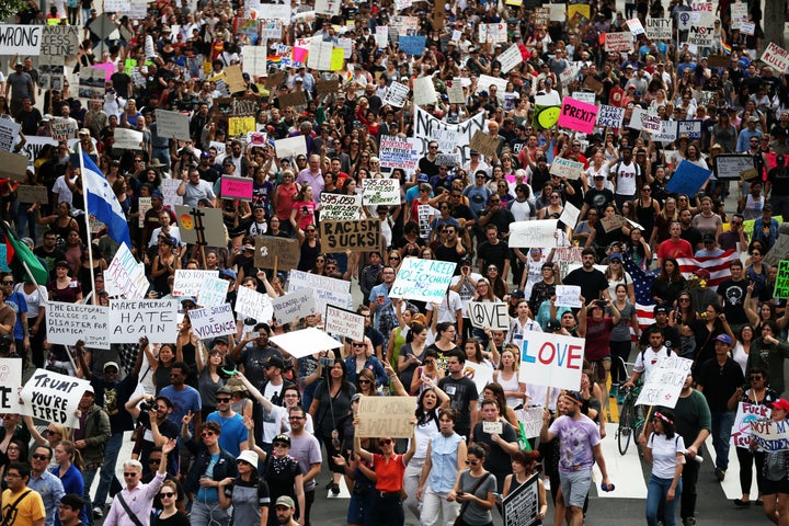
<path fill-rule="evenodd" d="M 79 428 L 79 403 L 89 388 L 88 380 L 36 369 L 20 392 L 20 412 L 47 423 Z"/>

